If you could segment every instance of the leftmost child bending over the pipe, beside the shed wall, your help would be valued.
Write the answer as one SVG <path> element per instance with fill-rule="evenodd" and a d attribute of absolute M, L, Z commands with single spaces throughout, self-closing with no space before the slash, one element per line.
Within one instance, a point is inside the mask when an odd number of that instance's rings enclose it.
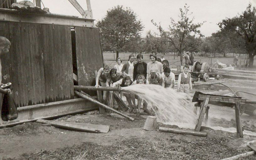
<path fill-rule="evenodd" d="M 102 87 L 109 87 L 109 85 L 106 84 L 107 79 L 109 79 L 109 67 L 108 65 L 105 65 L 103 68 L 100 68 L 97 77 L 96 77 L 96 84 L 95 87 L 98 88 L 99 84 Z M 103 91 L 103 103 L 106 104 L 107 99 L 107 91 Z"/>

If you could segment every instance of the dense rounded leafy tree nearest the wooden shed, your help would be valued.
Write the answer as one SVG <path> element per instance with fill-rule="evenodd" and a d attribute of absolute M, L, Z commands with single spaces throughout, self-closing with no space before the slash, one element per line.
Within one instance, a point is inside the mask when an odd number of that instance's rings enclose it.
<path fill-rule="evenodd" d="M 122 51 L 126 43 L 140 38 L 140 32 L 144 28 L 130 8 L 119 5 L 108 10 L 107 15 L 96 26 L 100 28 L 104 44 L 109 44 L 116 51 L 116 57 L 119 57 L 119 51 Z"/>

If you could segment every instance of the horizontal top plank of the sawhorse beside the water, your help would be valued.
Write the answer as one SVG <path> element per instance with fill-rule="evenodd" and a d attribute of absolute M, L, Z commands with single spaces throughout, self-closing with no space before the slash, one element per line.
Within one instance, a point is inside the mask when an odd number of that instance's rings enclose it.
<path fill-rule="evenodd" d="M 203 101 L 206 99 L 206 97 L 207 95 L 199 94 L 198 100 Z M 239 99 L 241 104 L 246 103 L 246 99 L 244 98 L 233 98 L 233 97 L 223 97 L 223 96 L 211 96 L 210 101 L 236 104 L 236 99 Z"/>

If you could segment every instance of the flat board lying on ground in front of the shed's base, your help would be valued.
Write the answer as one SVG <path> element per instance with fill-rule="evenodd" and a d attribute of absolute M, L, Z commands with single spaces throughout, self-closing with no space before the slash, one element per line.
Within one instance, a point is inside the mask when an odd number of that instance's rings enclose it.
<path fill-rule="evenodd" d="M 109 125 L 98 125 L 98 124 L 84 124 L 84 123 L 76 123 L 76 122 L 58 122 L 58 121 L 50 121 L 44 119 L 38 119 L 36 122 L 42 124 L 51 124 L 52 126 L 75 130 L 75 131 L 84 131 L 84 132 L 93 132 L 93 133 L 108 133 L 110 126 Z"/>

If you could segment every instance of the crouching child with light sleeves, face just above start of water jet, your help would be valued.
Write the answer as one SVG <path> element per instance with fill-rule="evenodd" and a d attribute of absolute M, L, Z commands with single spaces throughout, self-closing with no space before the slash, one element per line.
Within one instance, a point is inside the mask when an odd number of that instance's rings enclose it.
<path fill-rule="evenodd" d="M 134 85 L 134 84 L 149 84 L 149 82 L 148 82 L 147 79 L 145 79 L 145 76 L 140 75 L 140 76 L 138 76 L 138 79 L 135 80 L 132 83 L 132 85 Z M 139 116 L 140 115 L 140 107 L 141 107 L 142 99 L 138 95 L 135 95 L 134 97 L 138 100 L 138 103 L 137 103 L 137 108 L 138 108 L 137 116 Z M 147 107 L 148 107 L 148 103 L 146 102 L 146 100 L 143 100 L 143 112 L 148 114 L 148 115 L 150 115 L 151 113 L 148 111 Z"/>

